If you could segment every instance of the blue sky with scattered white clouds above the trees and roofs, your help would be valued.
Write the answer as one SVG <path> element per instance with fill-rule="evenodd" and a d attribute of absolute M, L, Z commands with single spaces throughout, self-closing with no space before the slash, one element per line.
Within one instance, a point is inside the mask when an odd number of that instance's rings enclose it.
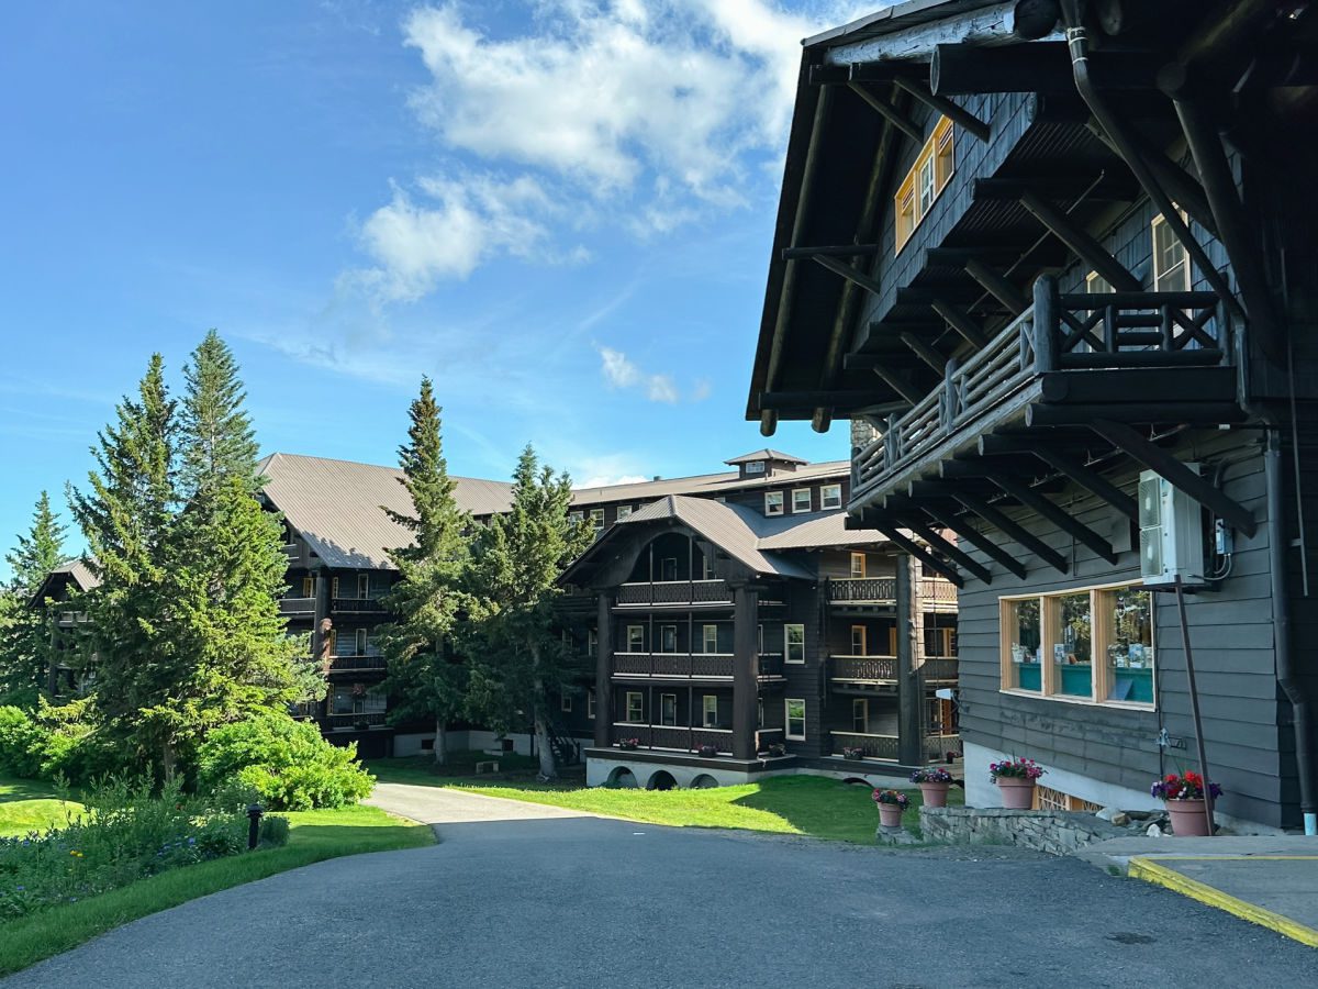
<path fill-rule="evenodd" d="M 762 446 L 799 40 L 863 9 L 5 5 L 0 543 L 210 327 L 268 451 L 393 463 L 422 373 L 455 473 L 527 440 L 577 483 Z M 838 427 L 772 443 L 846 455 Z"/>

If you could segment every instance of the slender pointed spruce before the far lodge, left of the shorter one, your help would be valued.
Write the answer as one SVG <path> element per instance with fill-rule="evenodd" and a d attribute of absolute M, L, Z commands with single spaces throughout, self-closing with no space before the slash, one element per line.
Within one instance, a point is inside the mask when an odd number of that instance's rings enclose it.
<path fill-rule="evenodd" d="M 390 716 L 435 723 L 435 764 L 448 757 L 448 725 L 467 707 L 467 667 L 449 647 L 471 607 L 465 592 L 472 518 L 457 506 L 457 487 L 444 460 L 440 409 L 428 377 L 409 410 L 407 442 L 398 448 L 398 479 L 411 496 L 410 514 L 385 509 L 413 534 L 413 543 L 389 551 L 399 580 L 385 597 L 393 621 L 381 626 L 389 669 L 384 688 L 395 698 Z"/>

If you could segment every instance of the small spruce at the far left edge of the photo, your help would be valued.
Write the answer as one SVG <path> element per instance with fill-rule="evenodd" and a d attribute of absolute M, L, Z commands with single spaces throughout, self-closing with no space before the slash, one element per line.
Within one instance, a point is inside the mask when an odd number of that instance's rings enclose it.
<path fill-rule="evenodd" d="M 50 621 L 42 608 L 32 607 L 32 597 L 50 571 L 69 560 L 63 545 L 65 526 L 50 508 L 50 496 L 41 492 L 32 529 L 5 556 L 11 578 L 0 588 L 0 694 L 8 703 L 36 704 L 49 680 L 54 662 Z"/>

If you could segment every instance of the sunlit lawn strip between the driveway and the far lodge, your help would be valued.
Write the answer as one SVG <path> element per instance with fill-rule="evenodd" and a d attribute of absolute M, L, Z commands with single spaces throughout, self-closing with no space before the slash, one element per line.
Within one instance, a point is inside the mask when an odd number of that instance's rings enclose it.
<path fill-rule="evenodd" d="M 873 844 L 879 823 L 867 786 L 824 777 L 771 777 L 742 786 L 659 791 L 606 790 L 531 781 L 484 785 L 477 778 L 455 781 L 436 777 L 410 760 L 377 760 L 369 767 L 386 783 L 463 787 L 489 796 L 608 814 L 647 824 L 745 828 Z M 912 803 L 903 823 L 916 829 L 920 823 L 920 791 L 911 783 L 902 786 L 905 787 L 911 787 L 908 793 Z M 949 803 L 961 803 L 963 799 L 962 791 L 956 789 L 948 796 Z"/>

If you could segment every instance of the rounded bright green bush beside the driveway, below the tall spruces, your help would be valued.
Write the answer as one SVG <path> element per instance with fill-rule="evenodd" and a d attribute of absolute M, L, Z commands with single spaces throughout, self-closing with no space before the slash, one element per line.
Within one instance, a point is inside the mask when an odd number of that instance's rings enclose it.
<path fill-rule="evenodd" d="M 217 795 L 250 787 L 270 810 L 343 807 L 376 782 L 356 757 L 356 745 L 331 745 L 312 724 L 261 715 L 207 736 L 196 753 L 198 783 Z"/>

